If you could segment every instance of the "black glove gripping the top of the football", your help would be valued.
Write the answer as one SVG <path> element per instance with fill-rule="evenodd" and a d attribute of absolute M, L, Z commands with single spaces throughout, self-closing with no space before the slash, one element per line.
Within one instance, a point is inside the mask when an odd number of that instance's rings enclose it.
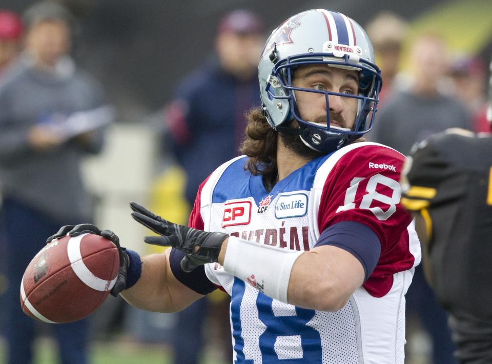
<path fill-rule="evenodd" d="M 53 239 L 58 239 L 61 237 L 64 237 L 66 235 L 70 236 L 78 236 L 81 234 L 96 234 L 100 235 L 110 241 L 113 242 L 114 245 L 116 245 L 116 248 L 118 248 L 118 255 L 119 255 L 119 270 L 118 270 L 118 277 L 116 278 L 116 282 L 113 286 L 113 289 L 111 290 L 111 295 L 114 297 L 117 297 L 118 294 L 126 289 L 127 287 L 127 271 L 128 271 L 128 266 L 130 264 L 130 259 L 128 257 L 128 254 L 125 252 L 126 248 L 121 248 L 119 245 L 119 237 L 113 233 L 111 230 L 100 230 L 96 226 L 92 224 L 79 224 L 79 225 L 65 225 L 58 230 L 58 232 L 54 235 L 51 235 L 47 240 L 46 244 L 51 242 Z"/>

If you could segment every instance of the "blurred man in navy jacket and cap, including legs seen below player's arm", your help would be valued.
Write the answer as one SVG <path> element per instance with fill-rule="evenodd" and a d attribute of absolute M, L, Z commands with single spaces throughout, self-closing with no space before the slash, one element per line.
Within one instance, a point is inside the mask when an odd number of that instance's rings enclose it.
<path fill-rule="evenodd" d="M 217 165 L 237 156 L 246 125 L 244 114 L 259 106 L 258 57 L 263 22 L 249 10 L 234 10 L 220 20 L 215 54 L 182 80 L 168 106 L 166 122 L 172 153 L 186 173 L 185 198 L 193 206 L 198 186 Z M 198 362 L 207 308 L 220 326 L 224 359 L 232 357 L 229 296 L 218 293 L 179 312 L 173 337 L 176 364 Z"/>

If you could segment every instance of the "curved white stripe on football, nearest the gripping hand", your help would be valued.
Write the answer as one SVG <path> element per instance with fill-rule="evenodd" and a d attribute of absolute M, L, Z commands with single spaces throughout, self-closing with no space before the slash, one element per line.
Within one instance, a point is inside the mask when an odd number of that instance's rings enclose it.
<path fill-rule="evenodd" d="M 67 244 L 67 253 L 70 263 L 72 264 L 72 269 L 87 286 L 97 291 L 109 291 L 113 288 L 117 276 L 113 280 L 105 280 L 96 277 L 82 260 L 82 255 L 80 254 L 80 241 L 87 234 L 81 234 L 75 237 L 71 237 Z"/>

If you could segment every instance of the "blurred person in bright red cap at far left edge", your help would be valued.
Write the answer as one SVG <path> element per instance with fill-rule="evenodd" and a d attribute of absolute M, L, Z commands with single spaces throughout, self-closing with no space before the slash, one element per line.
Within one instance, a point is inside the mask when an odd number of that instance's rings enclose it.
<path fill-rule="evenodd" d="M 14 12 L 0 9 L 0 74 L 17 57 L 22 33 L 20 17 Z"/>

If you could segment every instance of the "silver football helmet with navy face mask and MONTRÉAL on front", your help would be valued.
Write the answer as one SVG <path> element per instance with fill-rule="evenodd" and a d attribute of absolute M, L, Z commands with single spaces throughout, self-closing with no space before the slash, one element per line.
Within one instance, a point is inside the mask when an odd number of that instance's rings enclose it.
<path fill-rule="evenodd" d="M 324 64 L 359 71 L 358 94 L 345 94 L 292 85 L 293 70 L 301 65 Z M 371 41 L 351 18 L 324 9 L 291 16 L 275 29 L 258 64 L 262 108 L 272 128 L 299 134 L 310 148 L 330 153 L 371 130 L 382 85 Z M 326 124 L 304 120 L 297 109 L 296 92 L 325 95 Z M 329 95 L 357 99 L 357 114 L 350 130 L 330 125 Z M 289 122 L 296 119 L 299 129 Z M 319 121 L 319 120 L 318 120 Z"/>

